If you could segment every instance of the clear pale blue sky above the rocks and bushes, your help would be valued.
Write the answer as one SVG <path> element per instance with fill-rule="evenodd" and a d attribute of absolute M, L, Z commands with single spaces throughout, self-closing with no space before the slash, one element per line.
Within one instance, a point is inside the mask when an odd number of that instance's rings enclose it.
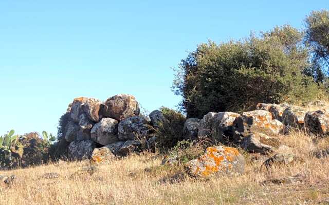
<path fill-rule="evenodd" d="M 173 71 L 208 39 L 303 27 L 327 0 L 0 1 L 0 135 L 57 133 L 78 96 L 135 95 L 152 111 L 175 108 Z"/>

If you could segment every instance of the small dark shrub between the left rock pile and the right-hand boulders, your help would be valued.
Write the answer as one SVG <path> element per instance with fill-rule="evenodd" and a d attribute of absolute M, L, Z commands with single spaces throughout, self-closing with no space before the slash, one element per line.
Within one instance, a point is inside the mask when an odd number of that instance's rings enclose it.
<path fill-rule="evenodd" d="M 168 121 L 163 122 L 156 131 L 156 144 L 158 149 L 166 151 L 183 139 L 183 129 L 186 118 L 180 112 L 170 108 L 161 107 L 160 111 Z"/>

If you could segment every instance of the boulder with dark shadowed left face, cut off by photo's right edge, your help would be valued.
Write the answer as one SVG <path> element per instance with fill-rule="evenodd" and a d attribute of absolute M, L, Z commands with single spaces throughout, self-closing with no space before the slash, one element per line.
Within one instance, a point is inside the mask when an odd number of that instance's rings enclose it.
<path fill-rule="evenodd" d="M 314 134 L 329 133 L 329 113 L 325 110 L 307 112 L 304 121 L 305 128 Z"/>

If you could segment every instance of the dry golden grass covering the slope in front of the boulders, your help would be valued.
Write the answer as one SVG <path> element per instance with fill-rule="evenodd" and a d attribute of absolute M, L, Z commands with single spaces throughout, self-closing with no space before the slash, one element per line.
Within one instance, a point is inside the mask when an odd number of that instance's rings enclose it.
<path fill-rule="evenodd" d="M 329 196 L 329 158 L 318 159 L 311 151 L 329 148 L 328 139 L 313 139 L 303 132 L 280 136 L 292 153 L 304 163 L 260 169 L 268 156 L 247 155 L 246 173 L 241 176 L 189 178 L 181 168 L 160 166 L 162 156 L 133 155 L 100 165 L 93 176 L 70 178 L 88 166 L 88 161 L 50 164 L 0 172 L 15 174 L 19 182 L 0 191 L 0 204 L 315 204 Z M 58 179 L 40 176 L 58 172 Z M 301 174 L 302 182 L 262 186 L 273 177 Z"/>

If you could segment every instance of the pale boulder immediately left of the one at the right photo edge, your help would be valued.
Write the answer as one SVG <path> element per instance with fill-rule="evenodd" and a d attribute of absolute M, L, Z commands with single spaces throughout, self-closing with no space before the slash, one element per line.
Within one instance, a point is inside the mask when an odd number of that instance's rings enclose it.
<path fill-rule="evenodd" d="M 282 114 L 283 124 L 286 126 L 291 126 L 293 128 L 303 126 L 306 112 L 307 111 L 301 107 L 288 107 L 283 111 Z"/>

